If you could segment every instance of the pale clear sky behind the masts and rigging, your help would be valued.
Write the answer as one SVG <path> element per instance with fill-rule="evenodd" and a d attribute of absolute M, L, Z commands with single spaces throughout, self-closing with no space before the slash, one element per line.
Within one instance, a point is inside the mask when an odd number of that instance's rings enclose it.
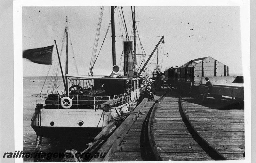
<path fill-rule="evenodd" d="M 123 7 L 128 34 L 132 35 L 131 7 Z M 116 8 L 116 36 L 125 35 L 120 18 L 121 7 Z M 72 48 L 69 47 L 69 74 L 87 75 L 92 47 L 100 13 L 99 7 L 22 7 L 23 49 L 53 45 L 57 40 L 61 51 L 66 16 Z M 146 57 L 152 53 L 161 36 L 165 43 L 159 46 L 162 71 L 166 67 L 181 66 L 201 57 L 211 56 L 229 66 L 230 74 L 242 74 L 242 50 L 239 6 L 162 6 L 135 7 L 136 25 Z M 110 7 L 104 7 L 98 50 L 110 21 Z M 116 37 L 116 63 L 120 63 L 125 37 Z M 133 41 L 133 38 L 132 38 Z M 137 38 L 137 43 L 139 42 Z M 138 48 L 139 47 L 139 48 Z M 74 54 L 73 54 L 74 51 Z M 62 54 L 64 65 L 65 46 Z M 137 44 L 137 53 L 144 53 Z M 163 55 L 164 54 L 164 55 Z M 168 54 L 168 55 L 167 55 Z M 53 56 L 56 57 L 55 50 Z M 75 60 L 73 59 L 75 57 Z M 156 66 L 156 52 L 149 61 L 149 69 Z M 154 59 L 153 59 L 154 58 Z M 50 65 L 32 63 L 23 59 L 23 76 L 46 76 Z M 52 65 L 53 67 L 53 65 Z M 108 75 L 112 68 L 111 30 L 100 51 L 94 75 Z"/>

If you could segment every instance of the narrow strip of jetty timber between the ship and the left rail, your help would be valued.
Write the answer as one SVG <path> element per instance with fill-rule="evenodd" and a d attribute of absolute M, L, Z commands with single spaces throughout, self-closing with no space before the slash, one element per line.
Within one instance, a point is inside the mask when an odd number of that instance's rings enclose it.
<path fill-rule="evenodd" d="M 155 95 L 155 99 L 160 97 L 166 89 L 162 89 L 158 91 Z M 147 99 L 144 99 L 147 101 Z M 124 138 L 122 141 L 120 141 L 120 144 L 115 143 L 111 145 L 105 145 L 100 148 L 100 152 L 104 151 L 112 151 L 107 153 L 106 157 L 104 159 L 92 159 L 91 161 L 142 161 L 141 157 L 141 151 L 140 151 L 140 135 L 141 135 L 141 128 L 143 125 L 143 121 L 145 120 L 146 115 L 148 114 L 149 109 L 152 107 L 152 105 L 155 103 L 155 101 L 147 101 L 146 105 L 141 105 L 141 107 L 137 107 L 137 110 L 142 111 L 142 115 L 137 116 L 137 120 L 131 125 L 130 129 L 127 129 L 128 132 L 122 133 L 122 131 L 116 132 L 115 136 L 109 137 L 108 142 L 111 144 L 111 142 L 116 142 L 119 140 L 116 140 L 115 138 L 117 137 L 122 137 L 124 134 Z M 124 123 L 124 122 L 123 122 Z M 125 122 L 125 123 L 130 123 L 130 121 Z M 125 125 L 127 126 L 127 125 Z M 120 127 L 120 126 L 119 126 Z M 113 133 L 114 134 L 114 133 Z M 112 140 L 114 139 L 114 140 Z M 98 151 L 98 152 L 99 152 Z M 126 153 L 125 155 L 124 152 Z M 122 155 L 122 156 L 121 156 Z"/>

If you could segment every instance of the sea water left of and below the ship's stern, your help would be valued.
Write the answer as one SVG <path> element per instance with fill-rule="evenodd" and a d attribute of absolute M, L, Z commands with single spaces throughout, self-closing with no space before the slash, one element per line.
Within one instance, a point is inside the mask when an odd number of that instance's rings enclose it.
<path fill-rule="evenodd" d="M 60 94 L 61 91 L 64 92 L 64 85 L 62 84 L 62 78 L 58 77 L 57 88 Z M 23 77 L 23 151 L 24 152 L 34 152 L 36 148 L 36 132 L 30 126 L 31 118 L 34 114 L 36 108 L 36 96 L 31 96 L 33 94 L 45 94 L 52 91 L 51 79 L 48 77 L 45 81 L 45 77 Z M 44 85 L 43 91 L 42 87 Z M 54 140 L 43 137 L 41 144 L 42 152 L 64 152 L 65 149 L 75 149 L 78 152 L 83 151 L 86 148 L 86 144 L 90 143 L 92 138 L 88 139 L 76 139 L 76 140 Z M 33 158 L 25 158 L 24 162 L 33 162 Z M 39 161 L 43 162 L 59 162 L 60 158 L 52 158 L 50 160 L 41 159 Z"/>

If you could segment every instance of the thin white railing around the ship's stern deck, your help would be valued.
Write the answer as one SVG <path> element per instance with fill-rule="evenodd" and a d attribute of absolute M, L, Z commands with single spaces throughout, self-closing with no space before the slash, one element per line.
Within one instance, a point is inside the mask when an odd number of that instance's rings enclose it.
<path fill-rule="evenodd" d="M 61 109 L 61 100 L 65 95 L 42 95 L 37 96 L 36 103 L 43 104 L 44 108 L 55 108 Z M 83 96 L 75 95 L 69 96 L 72 99 L 72 107 L 76 109 L 102 109 L 104 107 L 120 107 L 123 104 L 129 102 L 131 98 L 131 92 L 118 94 L 114 96 Z"/>

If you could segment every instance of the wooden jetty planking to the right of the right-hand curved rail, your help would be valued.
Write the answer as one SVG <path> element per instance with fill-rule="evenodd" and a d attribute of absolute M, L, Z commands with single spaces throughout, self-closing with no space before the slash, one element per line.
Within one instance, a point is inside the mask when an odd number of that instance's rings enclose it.
<path fill-rule="evenodd" d="M 240 103 L 208 99 L 202 104 L 189 97 L 182 98 L 182 103 L 190 122 L 207 142 L 227 159 L 244 159 L 244 109 Z"/>

